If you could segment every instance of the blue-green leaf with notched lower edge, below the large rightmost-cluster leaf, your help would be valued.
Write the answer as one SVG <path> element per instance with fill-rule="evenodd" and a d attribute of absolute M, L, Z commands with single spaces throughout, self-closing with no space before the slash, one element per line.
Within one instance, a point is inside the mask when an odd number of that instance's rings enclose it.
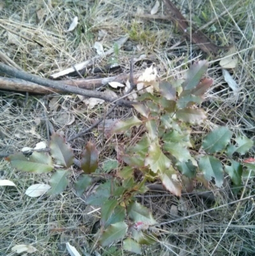
<path fill-rule="evenodd" d="M 219 188 L 222 186 L 224 176 L 220 160 L 214 156 L 202 156 L 198 162 L 198 167 L 203 172 L 207 181 L 210 181 L 214 177 L 216 186 Z"/>

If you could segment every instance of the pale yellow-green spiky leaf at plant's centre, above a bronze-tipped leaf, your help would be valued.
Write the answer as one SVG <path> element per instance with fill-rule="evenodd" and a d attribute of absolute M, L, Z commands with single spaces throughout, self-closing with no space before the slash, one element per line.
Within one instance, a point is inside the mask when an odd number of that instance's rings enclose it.
<path fill-rule="evenodd" d="M 170 168 L 171 161 L 161 151 L 160 147 L 153 143 L 149 147 L 149 154 L 145 158 L 145 166 L 150 165 L 152 172 L 164 172 L 164 170 Z"/>

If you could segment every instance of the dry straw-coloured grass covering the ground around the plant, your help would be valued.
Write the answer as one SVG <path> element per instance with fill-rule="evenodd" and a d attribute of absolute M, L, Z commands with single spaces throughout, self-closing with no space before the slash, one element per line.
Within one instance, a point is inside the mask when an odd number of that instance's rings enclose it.
<path fill-rule="evenodd" d="M 138 7 L 144 13 L 150 13 L 154 4 L 152 0 L 2 2 L 1 26 L 37 40 L 44 47 L 20 36 L 13 39 L 12 33 L 0 27 L 0 49 L 23 70 L 36 75 L 48 77 L 72 64 L 91 59 L 96 55 L 94 42 L 102 31 L 105 35 L 101 36 L 101 43 L 105 49 L 113 47 L 114 42 L 127 33 L 129 41 L 94 66 L 114 61 L 126 71 L 131 56 L 146 54 L 162 77 L 177 78 L 182 77 L 183 70 L 194 59 L 205 57 L 198 47 L 183 41 L 175 24 L 133 16 Z M 205 102 L 208 111 L 205 130 L 210 130 L 214 124 L 226 124 L 235 133 L 254 139 L 255 3 L 253 0 L 240 3 L 231 8 L 231 0 L 190 0 L 182 1 L 178 7 L 199 27 L 216 18 L 203 32 L 218 45 L 233 44 L 238 50 L 238 65 L 231 70 L 240 87 L 238 96 L 234 96 L 224 82 L 218 64 L 224 53 L 217 60 L 210 59 L 208 73 L 215 82 Z M 42 19 L 38 19 L 38 10 L 43 13 Z M 222 11 L 226 13 L 220 17 Z M 79 20 L 77 29 L 66 33 L 75 16 Z M 135 66 L 135 70 L 140 69 L 141 66 Z M 21 93 L 0 93 L 0 153 L 34 147 L 41 140 L 47 141 L 44 103 L 52 96 L 29 95 L 26 98 Z M 84 103 L 76 104 L 78 98 L 75 95 L 55 94 L 54 97 L 57 107 L 47 112 L 47 118 L 64 137 L 84 130 L 108 108 L 105 104 L 89 110 Z M 119 108 L 111 117 L 122 118 L 129 114 L 129 110 Z M 75 120 L 73 123 L 72 119 Z M 103 141 L 101 135 L 100 129 L 94 129 L 72 142 L 71 146 L 79 154 L 88 140 L 96 142 L 101 164 L 106 158 L 115 157 L 112 144 Z M 11 247 L 19 244 L 36 247 L 38 251 L 33 255 L 68 255 L 61 252 L 66 241 L 81 251 L 92 245 L 91 230 L 99 219 L 98 211 L 93 212 L 85 206 L 84 200 L 75 197 L 71 190 L 57 197 L 31 199 L 25 196 L 28 186 L 47 182 L 50 174 L 20 173 L 4 160 L 0 161 L 0 178 L 10 179 L 17 185 L 17 188 L 0 188 L 0 255 L 14 255 Z M 77 170 L 73 169 L 73 179 L 77 175 Z M 243 198 L 254 194 L 254 179 L 249 179 L 245 186 L 249 190 L 245 190 Z M 227 188 L 229 190 L 214 190 L 215 202 L 198 196 L 178 200 L 169 194 L 145 195 L 141 199 L 143 204 L 152 209 L 159 223 L 165 224 L 157 228 L 158 243 L 145 247 L 143 255 L 253 255 L 254 202 L 244 200 L 231 204 L 238 197 L 233 195 L 229 186 Z M 116 246 L 97 250 L 105 256 L 128 255 L 117 249 L 119 245 Z"/>

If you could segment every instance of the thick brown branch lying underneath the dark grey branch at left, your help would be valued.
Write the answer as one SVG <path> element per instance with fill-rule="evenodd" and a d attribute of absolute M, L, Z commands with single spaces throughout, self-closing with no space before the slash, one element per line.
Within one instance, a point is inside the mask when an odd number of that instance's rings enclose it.
<path fill-rule="evenodd" d="M 136 72 L 134 75 L 134 82 L 137 84 L 137 79 L 142 75 L 142 72 Z M 94 90 L 101 86 L 106 86 L 109 82 L 120 82 L 124 84 L 129 79 L 128 73 L 115 75 L 114 77 L 105 77 L 99 79 L 76 79 L 76 80 L 61 80 L 61 84 L 67 84 L 69 86 L 75 86 L 82 89 Z M 60 81 L 59 81 L 60 82 Z M 29 82 L 21 79 L 11 79 L 8 77 L 0 77 L 0 89 L 6 89 L 11 91 L 23 91 L 27 93 L 62 93 L 63 91 L 58 89 L 49 89 L 44 86 L 40 86 L 33 82 Z"/>

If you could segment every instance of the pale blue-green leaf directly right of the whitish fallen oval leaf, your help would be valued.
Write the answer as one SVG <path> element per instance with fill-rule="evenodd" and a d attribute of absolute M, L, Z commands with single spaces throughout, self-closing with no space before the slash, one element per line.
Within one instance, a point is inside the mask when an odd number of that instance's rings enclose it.
<path fill-rule="evenodd" d="M 68 186 L 69 179 L 66 178 L 68 174 L 68 170 L 57 170 L 54 172 L 49 181 L 52 188 L 48 190 L 47 195 L 59 195 L 59 193 L 63 192 Z"/>

